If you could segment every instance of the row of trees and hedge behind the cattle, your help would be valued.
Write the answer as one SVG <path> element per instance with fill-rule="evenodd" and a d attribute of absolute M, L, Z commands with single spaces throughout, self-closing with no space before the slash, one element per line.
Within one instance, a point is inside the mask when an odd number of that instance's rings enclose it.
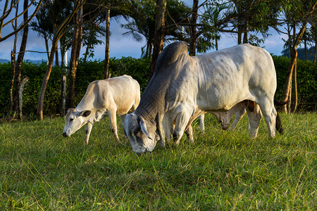
<path fill-rule="evenodd" d="M 43 113 L 63 115 L 80 101 L 94 79 L 128 74 L 143 90 L 163 46 L 173 41 L 186 41 L 189 55 L 194 56 L 218 50 L 224 34 L 231 34 L 237 44 L 261 46 L 270 37 L 270 29 L 287 35 L 283 53 L 290 53 L 290 59 L 273 56 L 278 76 L 275 98 L 290 101 L 282 108 L 285 113 L 298 108 L 316 110 L 316 1 L 194 0 L 192 6 L 175 0 L 1 3 L 0 45 L 15 38 L 11 63 L 0 66 L 1 117 L 21 119 L 22 110 L 32 119 L 36 113 L 37 120 L 42 120 Z M 109 58 L 109 22 L 120 18 L 128 21 L 121 25 L 128 30 L 125 36 L 147 40 L 142 58 Z M 12 28 L 11 32 L 2 30 L 7 27 Z M 47 63 L 23 63 L 29 28 L 44 38 Z M 104 60 L 92 60 L 94 46 L 101 43 L 106 46 Z M 304 46 L 304 61 L 297 60 L 300 44 Z M 80 58 L 83 46 L 85 53 Z M 68 50 L 70 63 L 66 66 Z"/>

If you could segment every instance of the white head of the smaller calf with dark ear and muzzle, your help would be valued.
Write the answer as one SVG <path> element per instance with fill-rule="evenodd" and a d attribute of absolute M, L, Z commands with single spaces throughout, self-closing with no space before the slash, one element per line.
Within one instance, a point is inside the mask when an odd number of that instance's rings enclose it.
<path fill-rule="evenodd" d="M 87 117 L 92 113 L 90 110 L 77 111 L 75 108 L 70 108 L 65 115 L 65 127 L 63 136 L 70 136 L 75 133 L 82 125 L 87 123 Z"/>

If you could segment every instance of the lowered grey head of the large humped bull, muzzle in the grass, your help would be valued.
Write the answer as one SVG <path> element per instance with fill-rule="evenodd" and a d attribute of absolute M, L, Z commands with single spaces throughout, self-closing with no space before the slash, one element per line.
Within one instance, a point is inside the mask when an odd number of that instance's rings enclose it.
<path fill-rule="evenodd" d="M 154 122 L 144 120 L 135 113 L 130 113 L 125 117 L 123 128 L 133 152 L 145 153 L 154 150 L 156 142 L 159 140 Z"/>

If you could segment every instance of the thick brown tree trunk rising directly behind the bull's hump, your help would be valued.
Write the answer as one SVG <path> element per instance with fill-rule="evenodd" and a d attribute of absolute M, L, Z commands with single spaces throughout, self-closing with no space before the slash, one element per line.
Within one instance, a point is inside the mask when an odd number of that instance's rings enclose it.
<path fill-rule="evenodd" d="M 153 53 L 151 58 L 151 68 L 149 72 L 149 79 L 154 74 L 156 60 L 159 54 L 163 50 L 164 46 L 164 30 L 165 27 L 165 11 L 166 11 L 166 0 L 158 0 L 156 4 L 156 20 L 155 20 L 155 33 L 154 33 L 154 45 Z"/>

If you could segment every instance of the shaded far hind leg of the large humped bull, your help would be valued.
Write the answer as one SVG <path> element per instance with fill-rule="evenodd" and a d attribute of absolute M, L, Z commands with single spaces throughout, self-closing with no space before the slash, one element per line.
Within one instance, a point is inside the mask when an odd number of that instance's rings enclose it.
<path fill-rule="evenodd" d="M 250 137 L 256 138 L 262 119 L 262 113 L 259 105 L 255 104 L 254 109 L 252 110 L 247 108 L 247 114 L 249 118 Z"/>

